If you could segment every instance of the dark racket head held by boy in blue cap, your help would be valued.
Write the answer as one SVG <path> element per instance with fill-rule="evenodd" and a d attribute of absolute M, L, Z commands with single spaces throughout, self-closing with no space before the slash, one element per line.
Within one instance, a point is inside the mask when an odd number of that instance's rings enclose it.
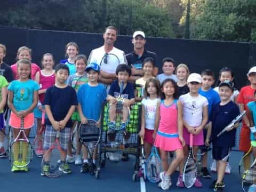
<path fill-rule="evenodd" d="M 101 129 L 97 121 L 87 119 L 86 124 L 80 124 L 78 127 L 79 141 L 87 148 L 95 148 L 100 141 Z"/>

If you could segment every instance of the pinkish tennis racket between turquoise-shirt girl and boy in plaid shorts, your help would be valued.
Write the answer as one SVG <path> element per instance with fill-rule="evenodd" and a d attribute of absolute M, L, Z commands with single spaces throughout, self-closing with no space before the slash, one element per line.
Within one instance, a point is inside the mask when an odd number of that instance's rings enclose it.
<path fill-rule="evenodd" d="M 45 111 L 42 112 L 42 125 L 33 141 L 33 151 L 37 157 L 43 157 L 43 133 L 45 131 Z"/>

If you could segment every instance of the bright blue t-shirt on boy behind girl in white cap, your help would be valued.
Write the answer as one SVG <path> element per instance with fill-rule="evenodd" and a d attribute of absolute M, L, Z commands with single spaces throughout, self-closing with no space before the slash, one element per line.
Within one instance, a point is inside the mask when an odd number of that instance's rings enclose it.
<path fill-rule="evenodd" d="M 212 88 L 209 89 L 208 91 L 203 91 L 200 88 L 199 89 L 199 94 L 204 96 L 208 100 L 208 102 L 209 102 L 209 105 L 208 105 L 208 116 L 210 117 L 211 111 L 212 111 L 212 107 L 220 102 L 220 95 L 219 95 L 219 93 L 217 93 L 217 91 L 214 91 Z"/>

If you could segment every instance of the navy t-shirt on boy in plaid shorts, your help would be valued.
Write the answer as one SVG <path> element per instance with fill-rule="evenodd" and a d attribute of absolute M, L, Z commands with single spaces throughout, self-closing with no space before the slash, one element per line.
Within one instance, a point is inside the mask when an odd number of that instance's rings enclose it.
<path fill-rule="evenodd" d="M 51 107 L 52 115 L 55 121 L 63 120 L 71 106 L 77 106 L 76 91 L 71 86 L 59 88 L 55 85 L 46 90 L 44 105 Z M 52 125 L 48 118 L 46 118 L 46 125 Z M 71 127 L 72 121 L 66 124 L 66 127 Z"/>

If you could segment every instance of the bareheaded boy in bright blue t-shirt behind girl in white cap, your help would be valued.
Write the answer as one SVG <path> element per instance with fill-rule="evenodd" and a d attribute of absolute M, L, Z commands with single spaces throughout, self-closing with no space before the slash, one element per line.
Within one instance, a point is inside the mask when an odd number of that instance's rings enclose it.
<path fill-rule="evenodd" d="M 220 97 L 219 94 L 212 89 L 212 85 L 214 84 L 214 73 L 210 69 L 205 69 L 201 73 L 202 76 L 202 87 L 199 90 L 199 94 L 204 96 L 208 100 L 208 115 L 210 117 L 211 115 L 211 110 L 214 105 L 220 102 Z M 207 133 L 207 124 L 205 126 L 204 131 L 204 138 L 206 138 L 206 133 Z M 207 170 L 207 151 L 209 151 L 209 147 L 207 146 L 200 146 L 201 149 L 201 175 L 203 178 L 211 178 L 211 174 Z"/>

